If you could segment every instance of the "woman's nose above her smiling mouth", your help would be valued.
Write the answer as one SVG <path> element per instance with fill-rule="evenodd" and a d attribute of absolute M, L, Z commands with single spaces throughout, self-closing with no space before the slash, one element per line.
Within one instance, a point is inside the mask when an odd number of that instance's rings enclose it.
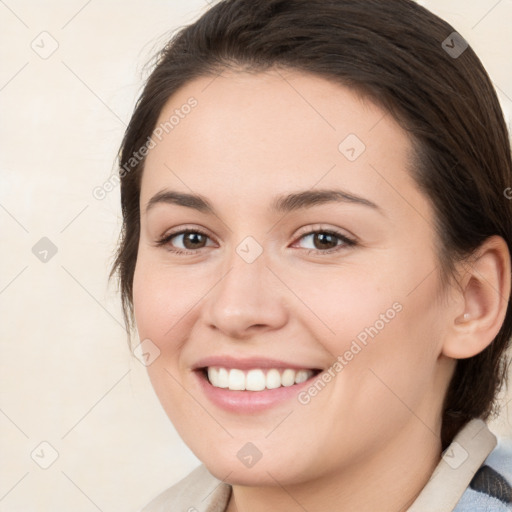
<path fill-rule="evenodd" d="M 209 327 L 236 339 L 283 327 L 288 321 L 285 297 L 264 256 L 247 263 L 235 253 L 230 263 L 204 304 Z"/>

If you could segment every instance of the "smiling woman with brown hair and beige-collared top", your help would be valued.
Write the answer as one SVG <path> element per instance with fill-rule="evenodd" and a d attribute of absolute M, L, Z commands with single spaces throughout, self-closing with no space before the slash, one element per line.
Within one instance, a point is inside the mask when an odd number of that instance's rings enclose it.
<path fill-rule="evenodd" d="M 221 1 L 162 51 L 120 176 L 125 318 L 204 463 L 145 510 L 510 509 L 483 421 L 510 144 L 451 26 L 409 0 Z"/>

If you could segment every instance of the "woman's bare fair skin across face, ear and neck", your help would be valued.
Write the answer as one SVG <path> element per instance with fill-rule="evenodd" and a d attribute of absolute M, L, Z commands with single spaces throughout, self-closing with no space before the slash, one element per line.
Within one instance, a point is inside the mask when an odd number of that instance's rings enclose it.
<path fill-rule="evenodd" d="M 461 270 L 461 287 L 446 285 L 432 209 L 409 174 L 410 140 L 345 87 L 293 70 L 226 71 L 186 85 L 160 121 L 192 96 L 197 106 L 149 151 L 141 186 L 134 310 L 140 339 L 160 350 L 148 372 L 162 406 L 233 485 L 229 512 L 405 510 L 440 458 L 452 358 L 483 350 L 503 321 L 506 245 L 490 240 Z M 354 161 L 339 150 L 349 134 L 366 146 Z M 164 203 L 146 211 L 164 189 L 199 194 L 215 213 Z M 320 189 L 378 209 L 271 210 L 276 196 Z M 171 252 L 187 247 L 183 236 L 156 245 L 183 227 L 205 231 L 204 246 Z M 322 254 L 307 235 L 325 230 L 357 245 Z M 248 236 L 263 250 L 252 263 L 236 251 Z M 227 412 L 192 371 L 214 355 L 328 369 L 394 303 L 400 312 L 306 405 Z M 237 458 L 247 442 L 262 453 L 251 468 Z"/>

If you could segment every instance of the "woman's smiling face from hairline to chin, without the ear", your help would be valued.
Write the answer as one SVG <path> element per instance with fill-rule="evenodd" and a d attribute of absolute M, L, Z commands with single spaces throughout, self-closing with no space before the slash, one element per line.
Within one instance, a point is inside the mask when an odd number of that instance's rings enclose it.
<path fill-rule="evenodd" d="M 175 94 L 150 147 L 135 317 L 209 470 L 285 485 L 437 446 L 448 308 L 392 117 L 316 76 L 226 72 Z"/>

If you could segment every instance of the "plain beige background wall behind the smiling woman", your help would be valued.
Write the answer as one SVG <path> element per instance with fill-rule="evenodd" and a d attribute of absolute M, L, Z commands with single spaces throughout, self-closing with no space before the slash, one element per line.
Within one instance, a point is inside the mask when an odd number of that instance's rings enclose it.
<path fill-rule="evenodd" d="M 512 1 L 422 3 L 473 45 L 510 125 Z M 198 464 L 131 356 L 107 286 L 118 187 L 101 201 L 92 190 L 114 169 L 144 64 L 207 7 L 0 2 L 0 512 L 135 511 Z M 46 263 L 32 252 L 43 237 L 57 248 Z M 511 435 L 511 410 L 496 432 Z"/>

